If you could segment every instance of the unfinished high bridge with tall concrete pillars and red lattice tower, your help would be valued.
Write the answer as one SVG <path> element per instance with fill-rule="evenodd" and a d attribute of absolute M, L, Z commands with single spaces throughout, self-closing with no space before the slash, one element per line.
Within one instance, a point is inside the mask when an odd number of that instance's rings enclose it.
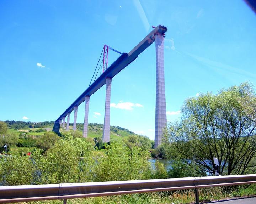
<path fill-rule="evenodd" d="M 70 113 L 74 111 L 73 130 L 76 130 L 76 118 L 79 105 L 85 101 L 85 117 L 83 137 L 88 136 L 88 113 L 90 97 L 100 87 L 106 84 L 106 101 L 105 101 L 105 116 L 103 126 L 103 142 L 110 141 L 110 98 L 111 98 L 111 82 L 112 78 L 116 76 L 122 69 L 133 62 L 140 53 L 147 49 L 155 42 L 156 49 L 156 106 L 155 106 L 155 148 L 161 144 L 162 131 L 166 126 L 166 101 L 165 101 L 165 75 L 164 75 L 164 37 L 167 31 L 165 26 L 153 27 L 154 29 L 136 45 L 129 53 L 118 52 L 111 47 L 105 45 L 102 59 L 102 74 L 57 118 L 55 121 L 53 131 L 59 132 L 60 126 L 69 130 Z M 108 50 L 118 52 L 120 56 L 108 67 Z M 99 60 L 100 61 L 100 60 Z M 98 63 L 99 63 L 98 61 Z M 97 64 L 98 65 L 98 64 Z M 100 65 L 101 67 L 101 65 Z M 97 67 L 96 67 L 97 68 Z M 96 70 L 96 69 L 95 69 Z M 95 72 L 94 72 L 95 73 Z M 97 72 L 98 73 L 98 72 Z M 94 76 L 93 76 L 94 78 Z M 92 80 L 91 80 L 92 82 Z"/>

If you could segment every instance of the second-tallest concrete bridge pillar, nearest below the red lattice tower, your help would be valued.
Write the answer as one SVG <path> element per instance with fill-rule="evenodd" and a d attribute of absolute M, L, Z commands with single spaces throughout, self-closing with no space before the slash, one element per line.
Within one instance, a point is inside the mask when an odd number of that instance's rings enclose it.
<path fill-rule="evenodd" d="M 103 142 L 110 141 L 110 94 L 111 94 L 112 79 L 106 78 L 106 102 L 105 102 L 105 116 L 103 129 Z"/>

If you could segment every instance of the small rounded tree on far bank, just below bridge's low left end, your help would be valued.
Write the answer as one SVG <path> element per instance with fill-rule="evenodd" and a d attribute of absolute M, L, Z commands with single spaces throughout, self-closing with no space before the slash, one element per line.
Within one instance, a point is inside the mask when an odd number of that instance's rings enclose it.
<path fill-rule="evenodd" d="M 36 144 L 39 148 L 43 149 L 43 152 L 48 148 L 53 147 L 55 142 L 57 142 L 60 137 L 55 132 L 46 132 L 43 136 L 41 136 Z"/>

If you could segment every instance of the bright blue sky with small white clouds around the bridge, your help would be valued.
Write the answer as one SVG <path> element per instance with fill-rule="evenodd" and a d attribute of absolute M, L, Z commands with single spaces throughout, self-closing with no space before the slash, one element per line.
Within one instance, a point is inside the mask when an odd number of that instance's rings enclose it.
<path fill-rule="evenodd" d="M 178 119 L 187 97 L 245 80 L 256 85 L 255 22 L 242 0 L 1 0 L 0 120 L 56 120 L 88 87 L 104 44 L 128 53 L 158 24 L 168 28 L 167 120 Z M 110 124 L 151 139 L 154 46 L 113 78 L 111 90 Z M 118 55 L 111 51 L 110 62 Z M 91 96 L 89 123 L 103 123 L 104 107 L 105 86 Z"/>

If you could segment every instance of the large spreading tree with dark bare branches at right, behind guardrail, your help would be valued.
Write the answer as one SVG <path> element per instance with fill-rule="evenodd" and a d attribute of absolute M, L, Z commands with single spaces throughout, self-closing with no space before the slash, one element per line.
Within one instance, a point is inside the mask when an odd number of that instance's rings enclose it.
<path fill-rule="evenodd" d="M 220 174 L 244 174 L 255 166 L 256 97 L 250 83 L 188 98 L 182 113 L 166 130 L 172 156 L 201 175 L 214 174 L 214 157 Z"/>

